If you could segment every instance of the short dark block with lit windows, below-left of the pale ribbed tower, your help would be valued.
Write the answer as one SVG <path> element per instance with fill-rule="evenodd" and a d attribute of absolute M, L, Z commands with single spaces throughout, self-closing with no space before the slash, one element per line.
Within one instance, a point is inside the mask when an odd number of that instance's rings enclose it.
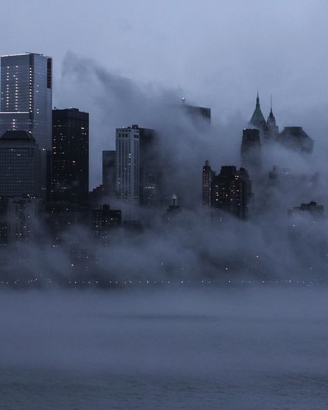
<path fill-rule="evenodd" d="M 111 209 L 107 204 L 100 206 L 99 209 L 92 210 L 91 226 L 93 234 L 103 244 L 108 244 L 111 231 L 118 228 L 121 223 L 121 211 Z"/>

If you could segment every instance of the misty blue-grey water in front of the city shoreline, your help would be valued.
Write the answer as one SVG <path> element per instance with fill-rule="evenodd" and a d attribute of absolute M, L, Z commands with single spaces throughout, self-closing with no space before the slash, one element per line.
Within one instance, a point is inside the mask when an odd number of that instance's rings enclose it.
<path fill-rule="evenodd" d="M 325 289 L 3 292 L 0 409 L 326 409 Z"/>

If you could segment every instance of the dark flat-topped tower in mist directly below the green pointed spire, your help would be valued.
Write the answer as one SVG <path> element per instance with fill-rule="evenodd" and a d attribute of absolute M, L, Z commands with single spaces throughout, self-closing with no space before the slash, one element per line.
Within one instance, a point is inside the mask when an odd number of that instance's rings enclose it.
<path fill-rule="evenodd" d="M 261 142 L 259 130 L 246 128 L 242 136 L 242 166 L 250 170 L 251 173 L 257 172 L 261 168 Z"/>

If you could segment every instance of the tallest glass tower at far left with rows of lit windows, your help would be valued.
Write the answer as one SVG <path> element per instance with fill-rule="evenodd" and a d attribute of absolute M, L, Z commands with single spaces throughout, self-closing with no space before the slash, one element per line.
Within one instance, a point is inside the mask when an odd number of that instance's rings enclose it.
<path fill-rule="evenodd" d="M 42 54 L 1 56 L 0 134 L 32 132 L 39 148 L 51 149 L 52 59 Z"/>

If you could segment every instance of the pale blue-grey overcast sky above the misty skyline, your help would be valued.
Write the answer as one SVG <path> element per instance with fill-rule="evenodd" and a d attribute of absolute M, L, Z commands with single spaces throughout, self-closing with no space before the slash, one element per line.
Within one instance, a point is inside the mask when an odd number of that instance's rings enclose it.
<path fill-rule="evenodd" d="M 62 64 L 75 53 L 141 87 L 181 90 L 192 103 L 212 107 L 213 121 L 237 112 L 250 118 L 258 89 L 264 116 L 273 94 L 278 125 L 303 125 L 311 136 L 328 129 L 327 0 L 0 0 L 0 6 L 1 54 L 51 55 L 59 107 L 92 112 L 88 96 L 82 101 L 62 85 Z"/>

